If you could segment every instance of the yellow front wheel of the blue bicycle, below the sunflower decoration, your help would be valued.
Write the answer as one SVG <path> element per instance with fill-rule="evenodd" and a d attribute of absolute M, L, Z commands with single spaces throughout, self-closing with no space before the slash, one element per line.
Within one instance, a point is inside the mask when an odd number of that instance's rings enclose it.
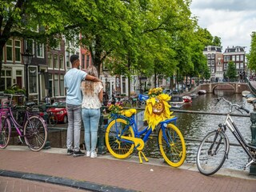
<path fill-rule="evenodd" d="M 159 130 L 158 147 L 170 166 L 182 166 L 186 158 L 186 143 L 177 126 L 169 123 L 165 129 Z"/>

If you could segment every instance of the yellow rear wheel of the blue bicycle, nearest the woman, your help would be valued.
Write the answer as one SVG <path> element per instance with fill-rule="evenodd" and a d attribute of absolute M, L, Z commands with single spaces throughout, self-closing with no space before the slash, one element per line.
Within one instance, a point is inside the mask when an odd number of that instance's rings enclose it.
<path fill-rule="evenodd" d="M 134 144 L 122 142 L 121 136 L 134 137 L 134 130 L 126 120 L 117 118 L 106 127 L 106 148 L 115 158 L 127 158 L 134 151 Z"/>

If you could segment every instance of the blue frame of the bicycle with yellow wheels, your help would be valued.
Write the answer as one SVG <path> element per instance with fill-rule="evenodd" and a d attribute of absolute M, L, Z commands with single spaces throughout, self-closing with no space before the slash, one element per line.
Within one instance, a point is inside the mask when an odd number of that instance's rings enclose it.
<path fill-rule="evenodd" d="M 143 130 L 139 131 L 138 130 L 138 126 L 137 126 L 137 123 L 135 121 L 135 115 L 133 114 L 130 118 L 127 118 L 126 116 L 122 115 L 122 114 L 113 114 L 112 116 L 112 121 L 116 121 L 117 118 L 122 118 L 122 119 L 125 119 L 126 122 L 127 122 L 127 125 L 125 127 L 125 129 L 122 130 L 122 133 L 120 135 L 123 134 L 123 132 L 126 132 L 126 130 L 129 129 L 129 127 L 131 126 L 132 129 L 134 130 L 134 138 L 142 138 L 143 142 L 147 142 L 150 138 L 150 134 L 152 133 L 152 129 L 149 127 L 149 126 L 146 126 L 146 128 L 144 128 Z M 163 122 L 160 122 L 159 125 L 160 125 L 160 128 L 162 130 L 166 129 L 166 125 L 170 122 L 174 122 L 174 125 L 176 125 L 176 120 L 177 118 L 170 118 L 170 119 L 166 119 L 165 121 Z M 117 124 L 115 123 L 115 129 L 117 130 L 117 133 L 118 133 L 118 129 L 117 129 Z M 163 133 L 163 137 L 165 138 L 166 140 L 166 143 L 168 145 L 170 145 L 170 142 L 168 141 L 167 139 L 167 136 L 166 136 L 166 132 L 165 131 L 162 131 Z M 142 135 L 145 134 L 143 137 Z M 130 140 L 127 140 L 125 138 L 121 138 L 120 136 L 117 135 L 117 137 L 122 141 L 122 142 L 129 142 L 129 143 L 134 143 Z M 135 148 L 137 148 L 137 146 L 135 146 Z"/>

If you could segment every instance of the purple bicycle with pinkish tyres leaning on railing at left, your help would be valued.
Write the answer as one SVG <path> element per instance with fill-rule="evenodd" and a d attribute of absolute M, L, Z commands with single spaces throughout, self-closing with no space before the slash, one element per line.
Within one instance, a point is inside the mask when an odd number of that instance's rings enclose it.
<path fill-rule="evenodd" d="M 13 97 L 10 94 L 11 98 Z M 12 99 L 10 99 L 10 102 Z M 11 104 L 11 103 L 10 103 Z M 26 103 L 26 110 L 23 113 L 23 121 L 17 122 L 14 118 L 15 106 L 2 106 L 0 110 L 0 149 L 6 148 L 10 142 L 12 127 L 18 133 L 18 138 L 33 151 L 42 150 L 46 144 L 48 128 L 46 122 L 39 114 L 32 112 L 34 102 Z"/>

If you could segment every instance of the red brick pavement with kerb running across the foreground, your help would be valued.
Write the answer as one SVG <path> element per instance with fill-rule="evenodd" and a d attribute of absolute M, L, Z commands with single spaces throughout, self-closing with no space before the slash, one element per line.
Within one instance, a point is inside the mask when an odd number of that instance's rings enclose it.
<path fill-rule="evenodd" d="M 193 165 L 173 168 L 154 158 L 143 164 L 134 156 L 126 160 L 108 154 L 74 158 L 66 156 L 66 149 L 33 152 L 26 146 L 8 146 L 0 150 L 0 157 L 0 191 L 81 191 L 81 186 L 88 191 L 256 191 L 256 177 L 249 176 L 248 170 L 222 169 L 206 177 Z M 30 190 L 4 188 L 15 188 L 16 184 L 23 185 L 18 184 L 21 182 Z M 62 189 L 50 183 L 62 185 Z"/>

